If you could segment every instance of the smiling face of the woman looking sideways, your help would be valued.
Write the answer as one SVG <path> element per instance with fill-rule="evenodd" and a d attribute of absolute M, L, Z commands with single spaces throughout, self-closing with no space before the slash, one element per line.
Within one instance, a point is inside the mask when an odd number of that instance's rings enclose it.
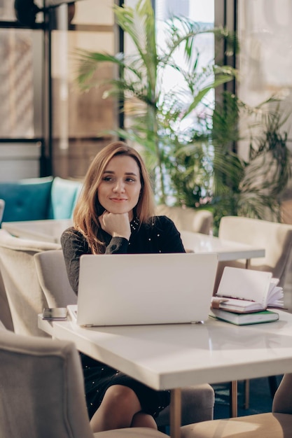
<path fill-rule="evenodd" d="M 113 157 L 97 189 L 99 203 L 110 213 L 132 214 L 140 191 L 140 171 L 134 158 L 127 155 Z"/>

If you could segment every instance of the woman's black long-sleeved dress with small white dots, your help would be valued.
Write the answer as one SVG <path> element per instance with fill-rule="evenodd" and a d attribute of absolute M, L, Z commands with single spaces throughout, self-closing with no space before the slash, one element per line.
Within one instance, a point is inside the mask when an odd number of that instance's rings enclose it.
<path fill-rule="evenodd" d="M 147 224 L 140 224 L 137 218 L 132 220 L 130 241 L 122 237 L 112 238 L 106 232 L 103 238 L 106 243 L 106 253 L 109 254 L 185 252 L 178 230 L 172 220 L 166 216 L 155 216 Z M 69 281 L 77 293 L 79 259 L 81 255 L 90 254 L 91 251 L 83 234 L 74 228 L 69 228 L 62 234 L 61 243 Z M 90 418 L 102 403 L 106 390 L 113 385 L 123 385 L 134 390 L 139 398 L 142 411 L 151 414 L 154 418 L 169 404 L 170 392 L 168 390 L 153 390 L 118 369 L 113 369 L 83 353 L 81 353 L 81 363 Z"/>

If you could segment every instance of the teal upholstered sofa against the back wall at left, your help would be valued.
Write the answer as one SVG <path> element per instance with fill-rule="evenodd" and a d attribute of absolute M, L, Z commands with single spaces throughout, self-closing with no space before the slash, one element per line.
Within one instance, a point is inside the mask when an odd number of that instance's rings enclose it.
<path fill-rule="evenodd" d="M 69 219 L 81 185 L 58 176 L 0 182 L 0 199 L 5 202 L 2 222 Z"/>

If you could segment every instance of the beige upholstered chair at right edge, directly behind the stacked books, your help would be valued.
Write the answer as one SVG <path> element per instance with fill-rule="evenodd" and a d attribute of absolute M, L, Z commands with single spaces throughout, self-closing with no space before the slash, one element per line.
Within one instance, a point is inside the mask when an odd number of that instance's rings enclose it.
<path fill-rule="evenodd" d="M 292 225 L 225 216 L 221 218 L 218 236 L 220 239 L 265 248 L 265 257 L 251 259 L 250 268 L 270 271 L 279 278 L 279 285 L 284 285 L 292 250 Z M 244 262 L 225 262 L 226 265 L 244 267 Z"/>

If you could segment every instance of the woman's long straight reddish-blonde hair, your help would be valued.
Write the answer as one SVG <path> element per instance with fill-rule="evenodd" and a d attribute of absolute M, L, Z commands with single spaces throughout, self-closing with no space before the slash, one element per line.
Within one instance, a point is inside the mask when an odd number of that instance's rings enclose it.
<path fill-rule="evenodd" d="M 109 161 L 116 155 L 132 157 L 139 167 L 141 192 L 137 206 L 134 208 L 134 216 L 139 219 L 140 223 L 143 223 L 148 222 L 155 213 L 151 181 L 137 150 L 127 146 L 123 141 L 116 141 L 105 146 L 90 164 L 73 215 L 74 227 L 85 236 L 94 254 L 105 252 L 105 243 L 101 238 L 102 228 L 99 223 L 99 216 L 104 212 L 104 207 L 99 203 L 97 190 Z"/>

